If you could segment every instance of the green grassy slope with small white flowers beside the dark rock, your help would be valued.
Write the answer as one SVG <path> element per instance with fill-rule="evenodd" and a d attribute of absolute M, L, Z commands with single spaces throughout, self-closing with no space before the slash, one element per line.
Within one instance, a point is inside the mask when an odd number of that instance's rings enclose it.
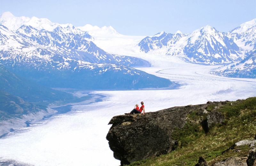
<path fill-rule="evenodd" d="M 253 139 L 256 134 L 256 97 L 228 102 L 220 108 L 226 120 L 222 124 L 214 125 L 205 133 L 199 122 L 206 119 L 197 116 L 196 112 L 188 115 L 189 122 L 184 128 L 176 130 L 172 135 L 178 140 L 176 149 L 169 154 L 158 157 L 150 157 L 143 161 L 130 164 L 130 166 L 194 166 L 200 156 L 203 156 L 209 165 L 231 156 L 248 155 L 249 146 L 240 146 L 241 152 L 229 150 L 222 155 L 234 143 Z M 214 105 L 208 110 L 212 110 Z"/>

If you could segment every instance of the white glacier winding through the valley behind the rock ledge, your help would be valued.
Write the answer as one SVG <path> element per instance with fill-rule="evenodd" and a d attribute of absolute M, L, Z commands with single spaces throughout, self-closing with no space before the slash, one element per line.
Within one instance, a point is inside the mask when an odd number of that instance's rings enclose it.
<path fill-rule="evenodd" d="M 148 57 L 153 62 L 153 58 Z M 256 96 L 255 79 L 225 78 L 208 74 L 212 68 L 185 63 L 177 57 L 159 58 L 155 67 L 139 68 L 180 84 L 172 90 L 94 91 L 104 94 L 102 102 L 74 105 L 66 114 L 32 121 L 30 127 L 16 128 L 1 138 L 1 161 L 40 166 L 113 166 L 106 135 L 113 116 L 124 114 L 143 101 L 145 111 L 173 106 L 245 99 Z M 161 64 L 157 65 L 156 64 Z M 161 67 L 159 67 L 161 66 Z M 79 93 L 81 96 L 81 93 Z M 142 140 L 141 140 L 142 141 Z"/>

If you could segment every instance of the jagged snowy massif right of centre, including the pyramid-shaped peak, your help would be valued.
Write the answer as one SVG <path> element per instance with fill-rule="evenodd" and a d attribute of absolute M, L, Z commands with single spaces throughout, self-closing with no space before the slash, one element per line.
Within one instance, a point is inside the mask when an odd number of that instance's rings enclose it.
<path fill-rule="evenodd" d="M 191 34 L 161 32 L 153 37 L 146 37 L 138 45 L 146 53 L 165 47 L 167 49 L 163 49 L 164 54 L 178 55 L 192 63 L 221 64 L 243 58 L 240 48 L 232 38 L 209 25 Z"/>

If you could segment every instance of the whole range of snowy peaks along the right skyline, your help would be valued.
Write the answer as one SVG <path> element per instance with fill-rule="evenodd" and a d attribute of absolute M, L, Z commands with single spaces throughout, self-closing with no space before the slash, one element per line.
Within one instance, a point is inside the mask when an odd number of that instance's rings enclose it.
<path fill-rule="evenodd" d="M 158 33 L 147 36 L 139 43 L 140 50 L 159 49 L 171 56 L 184 57 L 198 64 L 224 64 L 241 61 L 256 49 L 256 19 L 229 32 L 219 32 L 209 25 L 191 34 Z"/>

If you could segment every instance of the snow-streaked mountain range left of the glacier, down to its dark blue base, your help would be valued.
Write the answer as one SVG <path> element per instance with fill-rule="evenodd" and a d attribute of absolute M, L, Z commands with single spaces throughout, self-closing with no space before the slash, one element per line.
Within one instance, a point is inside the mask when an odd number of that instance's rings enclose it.
<path fill-rule="evenodd" d="M 168 79 L 132 68 L 148 67 L 147 61 L 108 54 L 90 41 L 92 36 L 71 24 L 14 17 L 10 12 L 0 21 L 0 64 L 41 85 L 90 90 L 172 85 Z"/>

